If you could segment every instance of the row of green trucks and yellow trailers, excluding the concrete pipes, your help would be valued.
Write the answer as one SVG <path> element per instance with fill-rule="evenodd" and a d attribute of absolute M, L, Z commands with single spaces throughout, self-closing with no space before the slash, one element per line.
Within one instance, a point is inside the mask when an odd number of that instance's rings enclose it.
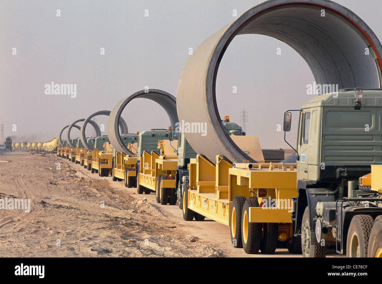
<path fill-rule="evenodd" d="M 304 257 L 325 257 L 328 247 L 349 257 L 381 257 L 380 100 L 382 90 L 344 89 L 286 111 L 285 133 L 293 112 L 298 135 L 297 145 L 285 140 L 296 151 L 285 160 L 283 151 L 262 150 L 229 117 L 221 121 L 227 134 L 257 163 L 223 155 L 210 161 L 171 127 L 121 135 L 131 153 L 114 151 L 105 135 L 89 138 L 91 163 L 78 139 L 76 148 L 58 147 L 57 155 L 77 153 L 76 163 L 91 165 L 92 173 L 110 174 L 138 194 L 155 193 L 160 204 L 178 203 L 187 221 L 228 225 L 232 245 L 246 253 L 274 253 L 285 243 Z"/>

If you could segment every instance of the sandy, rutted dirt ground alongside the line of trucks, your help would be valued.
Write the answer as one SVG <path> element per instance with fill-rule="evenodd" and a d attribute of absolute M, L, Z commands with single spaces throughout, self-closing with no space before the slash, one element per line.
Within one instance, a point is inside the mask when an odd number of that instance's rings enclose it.
<path fill-rule="evenodd" d="M 30 199 L 30 212 L 0 210 L 0 256 L 301 257 L 284 248 L 247 255 L 232 247 L 228 226 L 186 222 L 177 205 L 55 155 L 13 150 L 0 160 L 0 199 Z"/>

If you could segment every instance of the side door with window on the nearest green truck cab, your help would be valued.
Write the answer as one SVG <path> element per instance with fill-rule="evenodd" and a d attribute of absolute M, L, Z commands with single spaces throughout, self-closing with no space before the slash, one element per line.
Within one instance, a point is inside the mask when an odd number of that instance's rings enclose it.
<path fill-rule="evenodd" d="M 309 152 L 309 131 L 310 131 L 311 112 L 309 109 L 301 113 L 300 129 L 297 141 L 297 180 L 308 179 L 308 152 Z"/>

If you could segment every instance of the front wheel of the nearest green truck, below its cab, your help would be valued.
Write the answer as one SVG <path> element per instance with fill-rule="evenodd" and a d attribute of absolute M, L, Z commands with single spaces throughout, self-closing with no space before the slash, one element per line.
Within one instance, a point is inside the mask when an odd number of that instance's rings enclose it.
<path fill-rule="evenodd" d="M 316 238 L 310 231 L 309 208 L 306 206 L 301 222 L 301 250 L 303 251 L 303 257 L 326 257 L 326 246 L 311 245 L 312 242 L 316 242 Z"/>

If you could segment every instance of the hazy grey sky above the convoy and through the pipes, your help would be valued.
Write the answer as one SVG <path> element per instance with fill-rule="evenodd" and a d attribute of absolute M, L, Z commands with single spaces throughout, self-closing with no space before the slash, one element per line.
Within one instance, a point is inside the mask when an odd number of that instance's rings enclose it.
<path fill-rule="evenodd" d="M 233 9 L 240 15 L 260 2 L 2 0 L 0 122 L 5 135 L 14 141 L 50 140 L 63 126 L 95 111 L 111 110 L 145 86 L 176 96 L 188 49 L 195 50 L 232 21 Z M 337 2 L 382 37 L 380 0 Z M 282 55 L 276 54 L 278 47 Z M 286 148 L 277 124 L 282 124 L 285 110 L 300 108 L 312 98 L 306 95 L 306 85 L 313 81 L 305 61 L 283 42 L 260 35 L 236 36 L 219 67 L 219 112 L 240 123 L 245 108 L 248 135 L 258 135 L 263 148 Z M 51 82 L 76 84 L 76 98 L 45 95 L 45 84 Z M 232 86 L 237 86 L 236 94 Z M 130 103 L 123 118 L 129 132 L 169 124 L 165 111 L 144 99 Z M 106 127 L 106 116 L 97 121 Z M 293 144 L 294 133 L 288 134 Z M 78 135 L 74 129 L 71 137 Z"/>

